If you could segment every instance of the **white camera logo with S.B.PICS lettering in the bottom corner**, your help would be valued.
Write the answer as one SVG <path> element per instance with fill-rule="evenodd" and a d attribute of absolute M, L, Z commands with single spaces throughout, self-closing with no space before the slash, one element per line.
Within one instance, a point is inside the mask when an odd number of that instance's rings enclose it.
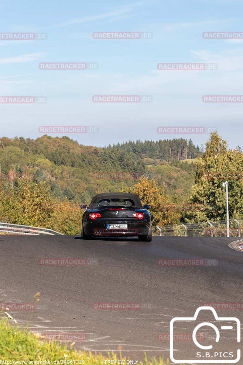
<path fill-rule="evenodd" d="M 209 316 L 210 319 L 212 317 L 214 318 L 210 322 L 204 322 L 205 316 Z M 203 332 L 205 333 L 206 339 L 208 339 L 208 346 L 205 346 L 205 341 L 204 345 L 199 343 L 200 340 L 197 337 L 197 331 L 201 327 L 204 327 Z M 178 328 L 186 328 L 188 333 L 192 333 L 193 341 L 191 342 L 191 346 L 187 348 L 181 347 L 179 349 L 178 343 L 175 345 L 173 336 L 174 328 L 177 331 Z M 235 364 L 240 360 L 240 349 L 235 348 L 232 350 L 232 343 L 229 339 L 236 339 L 237 342 L 240 342 L 239 319 L 235 317 L 218 317 L 214 308 L 199 307 L 193 317 L 176 317 L 171 320 L 170 358 L 176 364 L 192 362 Z M 215 343 L 210 345 L 209 342 L 213 340 Z"/>

